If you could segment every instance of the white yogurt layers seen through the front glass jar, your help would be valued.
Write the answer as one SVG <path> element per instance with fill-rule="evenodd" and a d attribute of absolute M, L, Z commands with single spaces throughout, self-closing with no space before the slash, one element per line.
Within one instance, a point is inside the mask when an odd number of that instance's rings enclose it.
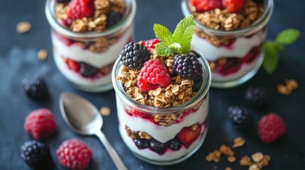
<path fill-rule="evenodd" d="M 181 120 L 181 122 L 174 123 L 166 127 L 151 123 L 149 120 L 145 120 L 144 118 L 139 118 L 129 115 L 124 110 L 121 103 L 122 101 L 120 101 L 119 96 L 116 96 L 116 98 L 117 98 L 117 114 L 119 118 L 119 131 L 121 133 L 121 136 L 124 142 L 129 147 L 129 149 L 132 150 L 132 152 L 137 153 L 142 157 L 145 157 L 146 159 L 151 159 L 156 161 L 171 161 L 171 160 L 179 159 L 185 156 L 186 154 L 192 152 L 193 149 L 196 149 L 196 147 L 199 147 L 198 145 L 201 145 L 201 143 L 205 138 L 208 124 L 201 125 L 200 137 L 198 137 L 198 139 L 194 141 L 188 148 L 182 146 L 181 149 L 175 151 L 168 149 L 164 154 L 160 155 L 154 151 L 151 151 L 149 148 L 139 149 L 134 144 L 132 138 L 129 137 L 129 135 L 127 135 L 127 132 L 125 130 L 125 125 L 127 125 L 131 130 L 134 131 L 147 132 L 149 133 L 149 135 L 154 137 L 154 139 L 158 140 L 159 142 L 163 142 L 163 143 L 168 142 L 168 140 L 172 140 L 174 137 L 176 137 L 178 132 L 180 132 L 183 128 L 189 127 L 196 123 L 202 124 L 208 118 L 208 96 L 206 100 L 203 102 L 203 104 L 200 106 L 200 108 L 198 108 L 198 111 L 186 115 L 186 117 L 184 117 L 183 120 Z"/>

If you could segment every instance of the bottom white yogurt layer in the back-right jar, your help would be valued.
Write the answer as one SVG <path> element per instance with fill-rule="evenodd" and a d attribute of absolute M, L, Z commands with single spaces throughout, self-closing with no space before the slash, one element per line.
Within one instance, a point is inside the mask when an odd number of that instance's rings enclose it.
<path fill-rule="evenodd" d="M 253 60 L 251 63 L 242 63 L 242 66 L 240 67 L 237 72 L 223 75 L 218 72 L 211 72 L 212 73 L 212 79 L 213 81 L 232 81 L 240 79 L 240 77 L 244 77 L 246 74 L 251 72 L 255 67 L 257 67 L 257 64 L 262 64 L 262 55 L 259 55 L 259 57 L 256 57 L 255 60 Z"/>

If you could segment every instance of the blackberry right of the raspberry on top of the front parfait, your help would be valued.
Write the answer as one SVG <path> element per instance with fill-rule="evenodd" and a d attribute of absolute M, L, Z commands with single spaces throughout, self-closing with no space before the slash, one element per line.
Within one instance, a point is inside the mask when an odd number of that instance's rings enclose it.
<path fill-rule="evenodd" d="M 203 69 L 196 55 L 176 55 L 174 60 L 173 69 L 179 76 L 185 79 L 200 79 Z"/>

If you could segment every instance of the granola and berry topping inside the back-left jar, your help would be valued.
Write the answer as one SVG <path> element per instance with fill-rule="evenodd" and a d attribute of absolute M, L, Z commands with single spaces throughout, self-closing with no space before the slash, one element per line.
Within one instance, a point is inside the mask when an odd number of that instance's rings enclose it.
<path fill-rule="evenodd" d="M 58 0 L 55 5 L 58 22 L 74 32 L 102 32 L 118 23 L 125 11 L 124 0 Z"/>

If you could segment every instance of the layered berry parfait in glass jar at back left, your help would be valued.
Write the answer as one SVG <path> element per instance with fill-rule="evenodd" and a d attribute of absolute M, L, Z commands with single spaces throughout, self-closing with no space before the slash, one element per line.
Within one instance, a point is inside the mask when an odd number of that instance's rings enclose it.
<path fill-rule="evenodd" d="M 134 0 L 48 0 L 53 55 L 60 72 L 84 91 L 112 89 L 111 72 L 134 35 Z"/>

